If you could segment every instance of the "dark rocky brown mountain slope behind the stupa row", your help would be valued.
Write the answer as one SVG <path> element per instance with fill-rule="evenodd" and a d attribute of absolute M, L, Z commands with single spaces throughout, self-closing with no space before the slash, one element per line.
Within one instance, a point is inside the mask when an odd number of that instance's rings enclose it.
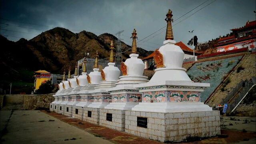
<path fill-rule="evenodd" d="M 98 50 L 100 58 L 107 58 L 110 40 L 114 41 L 116 48 L 117 38 L 112 34 L 104 33 L 97 36 L 86 31 L 73 33 L 60 27 L 42 32 L 31 40 L 21 38 L 17 42 L 12 42 L 0 36 L 3 51 L 0 66 L 4 68 L 1 76 L 10 78 L 17 75 L 20 69 L 30 71 L 41 69 L 61 74 L 69 66 L 74 67 L 75 62 L 83 58 L 85 52 L 89 52 L 89 56 L 93 57 Z M 122 42 L 122 51 L 129 48 L 131 46 Z M 142 58 L 148 56 L 152 51 L 138 48 L 138 53 Z M 129 54 L 130 51 L 123 53 L 123 59 L 128 58 Z"/>

